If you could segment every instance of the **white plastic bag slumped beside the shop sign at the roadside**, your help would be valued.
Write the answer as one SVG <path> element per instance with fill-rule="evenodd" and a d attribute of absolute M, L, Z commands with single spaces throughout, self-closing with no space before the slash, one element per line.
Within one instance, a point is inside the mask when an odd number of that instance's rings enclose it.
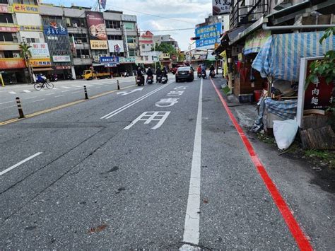
<path fill-rule="evenodd" d="M 274 138 L 279 149 L 285 150 L 293 143 L 298 132 L 298 123 L 293 119 L 274 120 Z"/>

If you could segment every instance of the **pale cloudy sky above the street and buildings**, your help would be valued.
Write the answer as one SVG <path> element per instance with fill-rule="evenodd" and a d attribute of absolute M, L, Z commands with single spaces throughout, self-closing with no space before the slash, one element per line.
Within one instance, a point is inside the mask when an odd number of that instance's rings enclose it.
<path fill-rule="evenodd" d="M 95 0 L 44 0 L 42 2 L 64 6 L 71 6 L 73 2 L 76 6 L 88 7 L 93 6 Z M 211 6 L 212 0 L 107 0 L 106 8 L 136 15 L 142 33 L 145 30 L 194 28 L 196 23 L 203 23 L 204 18 L 208 17 L 208 14 L 211 13 Z M 144 13 L 165 18 L 148 16 Z M 187 50 L 189 38 L 194 36 L 194 30 L 155 31 L 153 34 L 170 34 L 177 40 L 182 50 Z"/>

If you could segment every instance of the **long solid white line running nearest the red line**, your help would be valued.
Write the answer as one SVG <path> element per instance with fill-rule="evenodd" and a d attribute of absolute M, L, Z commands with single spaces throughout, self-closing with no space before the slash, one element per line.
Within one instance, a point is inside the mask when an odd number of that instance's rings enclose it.
<path fill-rule="evenodd" d="M 184 243 L 199 244 L 200 222 L 200 181 L 201 181 L 201 122 L 202 122 L 202 79 L 200 83 L 198 115 L 194 136 L 191 177 L 189 180 L 189 197 L 184 225 Z"/>

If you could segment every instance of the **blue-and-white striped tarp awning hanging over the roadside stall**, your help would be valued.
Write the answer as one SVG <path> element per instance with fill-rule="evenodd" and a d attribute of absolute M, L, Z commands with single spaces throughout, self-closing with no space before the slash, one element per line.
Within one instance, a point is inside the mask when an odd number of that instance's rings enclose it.
<path fill-rule="evenodd" d="M 300 59 L 320 57 L 334 49 L 335 36 L 319 43 L 324 32 L 271 35 L 252 63 L 262 77 L 272 76 L 286 81 L 298 81 Z"/>

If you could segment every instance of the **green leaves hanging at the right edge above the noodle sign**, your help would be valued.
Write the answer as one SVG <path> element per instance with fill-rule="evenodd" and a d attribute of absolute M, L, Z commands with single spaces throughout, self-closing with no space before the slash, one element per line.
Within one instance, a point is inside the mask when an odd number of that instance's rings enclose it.
<path fill-rule="evenodd" d="M 324 31 L 324 35 L 322 35 L 320 39 L 320 44 L 330 37 L 334 35 L 335 28 L 328 28 Z M 335 51 L 330 50 L 324 55 L 324 59 L 316 60 L 310 64 L 310 75 L 306 79 L 305 89 L 309 86 L 310 83 L 315 83 L 319 76 L 323 76 L 326 78 L 326 82 L 330 83 L 335 79 Z"/>

